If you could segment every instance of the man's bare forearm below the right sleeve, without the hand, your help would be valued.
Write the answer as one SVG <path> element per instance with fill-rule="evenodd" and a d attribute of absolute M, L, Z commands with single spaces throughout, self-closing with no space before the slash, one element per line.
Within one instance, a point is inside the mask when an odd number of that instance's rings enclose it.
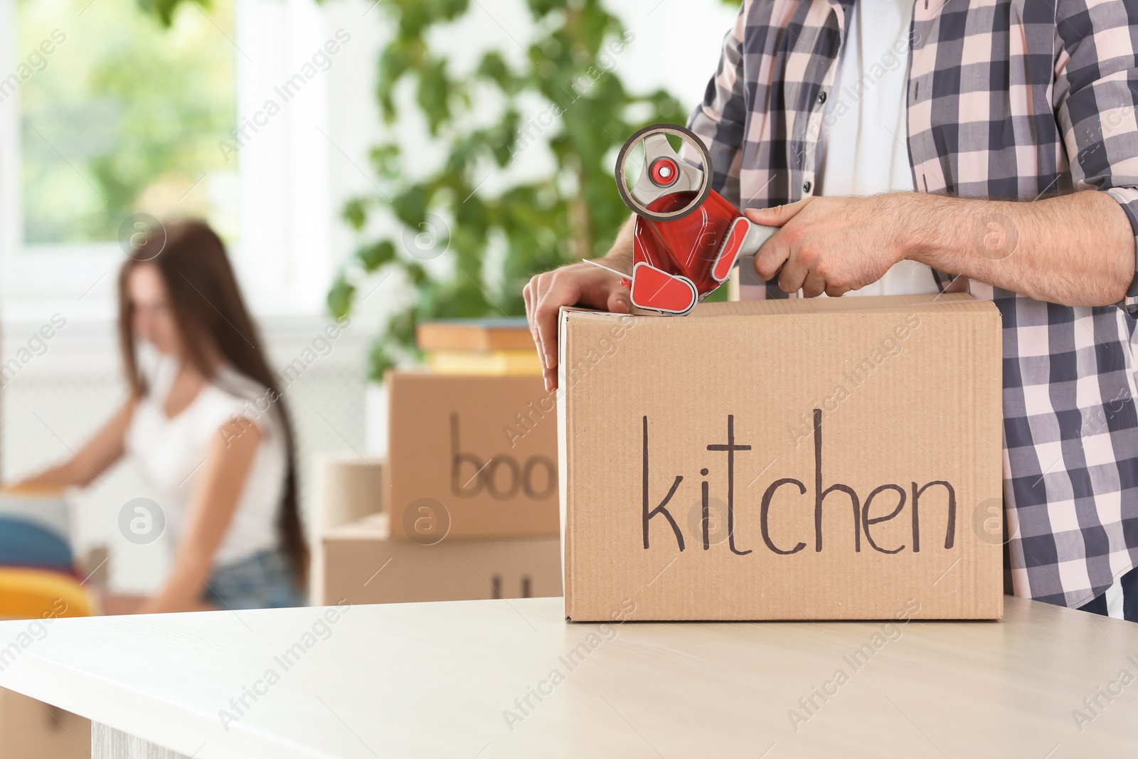
<path fill-rule="evenodd" d="M 1037 300 L 1105 306 L 1135 277 L 1125 212 L 1100 191 L 1034 203 L 905 193 L 906 257 Z"/>

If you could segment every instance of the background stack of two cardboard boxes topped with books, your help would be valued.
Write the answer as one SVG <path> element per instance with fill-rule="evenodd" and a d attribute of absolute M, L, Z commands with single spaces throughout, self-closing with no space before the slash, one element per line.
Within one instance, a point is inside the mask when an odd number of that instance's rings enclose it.
<path fill-rule="evenodd" d="M 560 595 L 556 402 L 525 321 L 427 323 L 418 340 L 430 370 L 386 378 L 387 513 L 325 531 L 320 595 Z"/>

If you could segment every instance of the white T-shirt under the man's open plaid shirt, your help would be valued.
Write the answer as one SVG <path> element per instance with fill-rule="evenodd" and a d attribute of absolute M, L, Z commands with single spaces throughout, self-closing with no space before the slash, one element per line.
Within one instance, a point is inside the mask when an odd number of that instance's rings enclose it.
<path fill-rule="evenodd" d="M 822 119 L 818 195 L 916 189 L 909 164 L 905 104 L 912 18 L 913 0 L 857 0 L 849 11 L 846 42 Z M 937 291 L 926 265 L 901 261 L 875 283 L 847 295 Z"/>

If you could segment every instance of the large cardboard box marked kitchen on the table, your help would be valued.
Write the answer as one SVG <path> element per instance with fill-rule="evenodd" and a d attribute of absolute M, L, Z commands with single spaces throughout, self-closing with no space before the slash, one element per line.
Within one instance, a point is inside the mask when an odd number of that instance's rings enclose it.
<path fill-rule="evenodd" d="M 567 617 L 1001 616 L 991 303 L 563 310 L 560 335 Z"/>

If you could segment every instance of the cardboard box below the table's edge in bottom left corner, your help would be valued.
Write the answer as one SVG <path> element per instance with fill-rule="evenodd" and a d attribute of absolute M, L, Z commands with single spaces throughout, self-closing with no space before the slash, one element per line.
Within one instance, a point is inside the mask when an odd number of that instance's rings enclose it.
<path fill-rule="evenodd" d="M 0 688 L 0 759 L 89 759 L 91 720 Z"/>

